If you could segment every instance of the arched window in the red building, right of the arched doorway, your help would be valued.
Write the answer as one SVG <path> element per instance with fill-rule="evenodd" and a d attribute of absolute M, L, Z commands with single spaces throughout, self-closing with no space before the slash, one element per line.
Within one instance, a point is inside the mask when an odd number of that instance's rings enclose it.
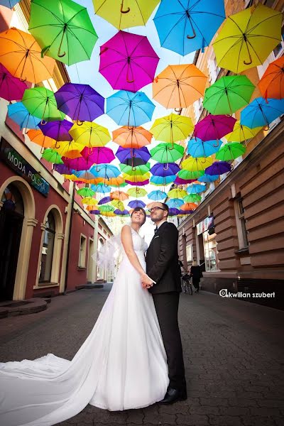
<path fill-rule="evenodd" d="M 53 250 L 55 243 L 55 219 L 52 212 L 48 213 L 43 236 L 43 248 L 40 259 L 39 283 L 50 283 L 53 269 Z"/>

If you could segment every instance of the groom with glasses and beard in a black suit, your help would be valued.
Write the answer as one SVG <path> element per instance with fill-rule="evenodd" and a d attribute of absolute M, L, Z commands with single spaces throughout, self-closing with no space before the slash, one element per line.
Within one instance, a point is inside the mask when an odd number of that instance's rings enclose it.
<path fill-rule="evenodd" d="M 142 283 L 153 295 L 160 331 L 168 361 L 170 383 L 162 404 L 187 399 L 182 343 L 178 328 L 180 266 L 178 264 L 178 229 L 167 221 L 168 205 L 153 202 L 149 209 L 155 222 L 155 235 L 146 254 L 147 275 Z"/>

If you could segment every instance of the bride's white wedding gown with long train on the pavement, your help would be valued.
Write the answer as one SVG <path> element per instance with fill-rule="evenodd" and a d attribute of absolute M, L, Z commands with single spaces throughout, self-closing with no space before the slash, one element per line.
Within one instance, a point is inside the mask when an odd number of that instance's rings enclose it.
<path fill-rule="evenodd" d="M 132 228 L 131 234 L 146 268 L 147 245 Z M 55 425 L 87 404 L 142 408 L 163 399 L 168 383 L 152 295 L 124 253 L 97 322 L 72 361 L 48 354 L 0 363 L 0 425 Z"/>

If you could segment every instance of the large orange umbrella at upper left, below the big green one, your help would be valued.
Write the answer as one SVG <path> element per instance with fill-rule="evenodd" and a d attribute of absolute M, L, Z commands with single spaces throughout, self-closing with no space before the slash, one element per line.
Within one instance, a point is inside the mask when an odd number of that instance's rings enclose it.
<path fill-rule="evenodd" d="M 0 33 L 0 62 L 15 77 L 39 83 L 53 75 L 55 60 L 41 57 L 41 48 L 33 35 L 18 28 Z"/>

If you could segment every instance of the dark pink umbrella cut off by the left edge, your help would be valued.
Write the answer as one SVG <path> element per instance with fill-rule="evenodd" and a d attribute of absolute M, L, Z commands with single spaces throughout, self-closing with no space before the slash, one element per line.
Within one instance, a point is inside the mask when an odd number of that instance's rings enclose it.
<path fill-rule="evenodd" d="M 20 101 L 28 86 L 0 64 L 0 97 L 6 101 Z"/>

